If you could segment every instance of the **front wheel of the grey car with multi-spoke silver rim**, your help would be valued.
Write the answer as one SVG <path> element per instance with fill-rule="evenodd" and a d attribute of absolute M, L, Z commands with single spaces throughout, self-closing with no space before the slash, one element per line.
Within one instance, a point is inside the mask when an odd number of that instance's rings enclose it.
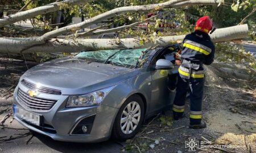
<path fill-rule="evenodd" d="M 123 103 L 117 113 L 117 117 L 115 117 L 112 137 L 118 141 L 133 138 L 141 129 L 143 120 L 144 104 L 142 98 L 139 95 L 130 96 L 125 103 Z"/>

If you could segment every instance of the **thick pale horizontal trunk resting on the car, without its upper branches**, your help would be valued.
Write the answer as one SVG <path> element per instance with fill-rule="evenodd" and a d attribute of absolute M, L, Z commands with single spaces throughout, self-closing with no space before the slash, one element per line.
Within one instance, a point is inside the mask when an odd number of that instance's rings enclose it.
<path fill-rule="evenodd" d="M 236 25 L 228 28 L 216 29 L 210 37 L 213 42 L 229 41 L 247 37 L 247 24 Z M 27 52 L 80 52 L 81 50 L 102 50 L 102 49 L 126 49 L 126 48 L 147 48 L 148 46 L 165 46 L 183 40 L 185 35 L 164 36 L 155 39 L 154 42 L 144 42 L 143 45 L 137 39 L 51 39 L 46 44 L 33 45 L 35 38 L 0 38 L 0 53 Z M 32 46 L 31 46 L 32 45 Z"/>

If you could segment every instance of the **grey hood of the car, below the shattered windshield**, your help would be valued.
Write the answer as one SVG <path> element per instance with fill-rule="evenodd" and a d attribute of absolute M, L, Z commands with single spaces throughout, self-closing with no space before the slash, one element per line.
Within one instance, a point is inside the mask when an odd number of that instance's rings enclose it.
<path fill-rule="evenodd" d="M 32 67 L 20 80 L 26 79 L 31 83 L 61 90 L 63 95 L 79 95 L 114 86 L 137 74 L 138 69 L 61 58 Z"/>

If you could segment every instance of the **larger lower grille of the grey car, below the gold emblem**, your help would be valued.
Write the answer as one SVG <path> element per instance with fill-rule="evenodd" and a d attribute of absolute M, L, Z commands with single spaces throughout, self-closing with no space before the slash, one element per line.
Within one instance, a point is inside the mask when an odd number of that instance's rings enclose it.
<path fill-rule="evenodd" d="M 30 109 L 49 110 L 57 100 L 43 99 L 36 96 L 30 96 L 26 92 L 18 89 L 18 100 Z"/>

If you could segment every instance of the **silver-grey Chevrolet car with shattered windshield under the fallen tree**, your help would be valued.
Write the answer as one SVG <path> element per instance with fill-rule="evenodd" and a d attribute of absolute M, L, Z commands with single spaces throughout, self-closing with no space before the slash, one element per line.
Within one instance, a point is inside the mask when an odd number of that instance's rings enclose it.
<path fill-rule="evenodd" d="M 165 48 L 100 50 L 45 62 L 22 75 L 14 118 L 57 141 L 121 141 L 170 109 L 177 66 Z"/>

